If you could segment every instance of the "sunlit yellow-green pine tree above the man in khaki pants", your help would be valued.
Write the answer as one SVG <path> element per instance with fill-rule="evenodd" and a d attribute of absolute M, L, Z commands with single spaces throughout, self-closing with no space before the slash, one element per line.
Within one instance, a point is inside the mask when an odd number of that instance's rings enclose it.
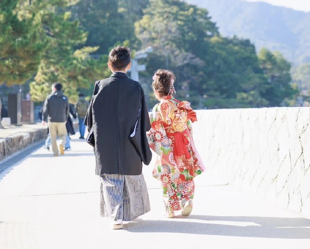
<path fill-rule="evenodd" d="M 101 60 L 92 59 L 89 54 L 98 47 L 74 47 L 86 42 L 87 33 L 80 28 L 78 20 L 71 20 L 67 8 L 77 1 L 33 0 L 20 2 L 20 15 L 35 15 L 41 20 L 40 28 L 45 31 L 47 48 L 40 61 L 30 93 L 35 101 L 42 101 L 51 91 L 51 84 L 58 81 L 64 86 L 69 101 L 78 98 L 78 88 L 90 88 L 90 81 L 100 77 L 98 66 Z"/>

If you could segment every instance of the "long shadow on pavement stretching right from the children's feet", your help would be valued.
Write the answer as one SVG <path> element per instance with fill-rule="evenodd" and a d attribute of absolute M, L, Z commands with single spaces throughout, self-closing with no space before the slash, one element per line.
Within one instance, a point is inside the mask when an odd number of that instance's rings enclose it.
<path fill-rule="evenodd" d="M 254 238 L 310 239 L 310 220 L 304 218 L 207 216 L 176 216 L 178 220 L 141 220 L 124 225 L 131 233 L 184 233 Z M 203 220 L 194 222 L 190 220 Z M 188 221 L 180 221 L 188 220 Z M 210 223 L 208 223 L 208 221 Z M 215 224 L 224 222 L 252 222 L 253 225 Z M 308 228 L 306 228 L 308 227 Z"/>

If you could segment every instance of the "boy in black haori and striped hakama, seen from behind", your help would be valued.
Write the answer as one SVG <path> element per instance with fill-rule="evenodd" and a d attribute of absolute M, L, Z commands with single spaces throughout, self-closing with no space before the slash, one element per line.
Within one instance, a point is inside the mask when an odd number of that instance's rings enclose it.
<path fill-rule="evenodd" d="M 126 75 L 130 49 L 117 46 L 109 53 L 112 75 L 96 81 L 84 124 L 93 136 L 96 174 L 100 176 L 100 215 L 111 219 L 113 229 L 150 211 L 142 162 L 152 152 L 146 132 L 151 129 L 144 92 Z"/>

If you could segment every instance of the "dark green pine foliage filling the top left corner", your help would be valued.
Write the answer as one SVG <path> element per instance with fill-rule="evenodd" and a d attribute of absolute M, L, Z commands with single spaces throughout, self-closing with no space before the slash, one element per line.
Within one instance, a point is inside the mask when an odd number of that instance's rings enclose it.
<path fill-rule="evenodd" d="M 35 15 L 21 17 L 15 12 L 18 0 L 0 2 L 0 83 L 22 84 L 38 70 L 45 51 Z"/>

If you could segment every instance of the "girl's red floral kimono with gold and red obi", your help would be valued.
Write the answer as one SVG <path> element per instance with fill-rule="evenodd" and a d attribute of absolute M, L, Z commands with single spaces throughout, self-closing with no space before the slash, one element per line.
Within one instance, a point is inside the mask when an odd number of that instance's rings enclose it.
<path fill-rule="evenodd" d="M 166 212 L 175 212 L 193 199 L 193 178 L 204 171 L 192 138 L 196 113 L 189 102 L 168 95 L 154 106 L 150 121 L 152 128 L 147 137 L 158 155 L 153 177 L 162 182 Z"/>

